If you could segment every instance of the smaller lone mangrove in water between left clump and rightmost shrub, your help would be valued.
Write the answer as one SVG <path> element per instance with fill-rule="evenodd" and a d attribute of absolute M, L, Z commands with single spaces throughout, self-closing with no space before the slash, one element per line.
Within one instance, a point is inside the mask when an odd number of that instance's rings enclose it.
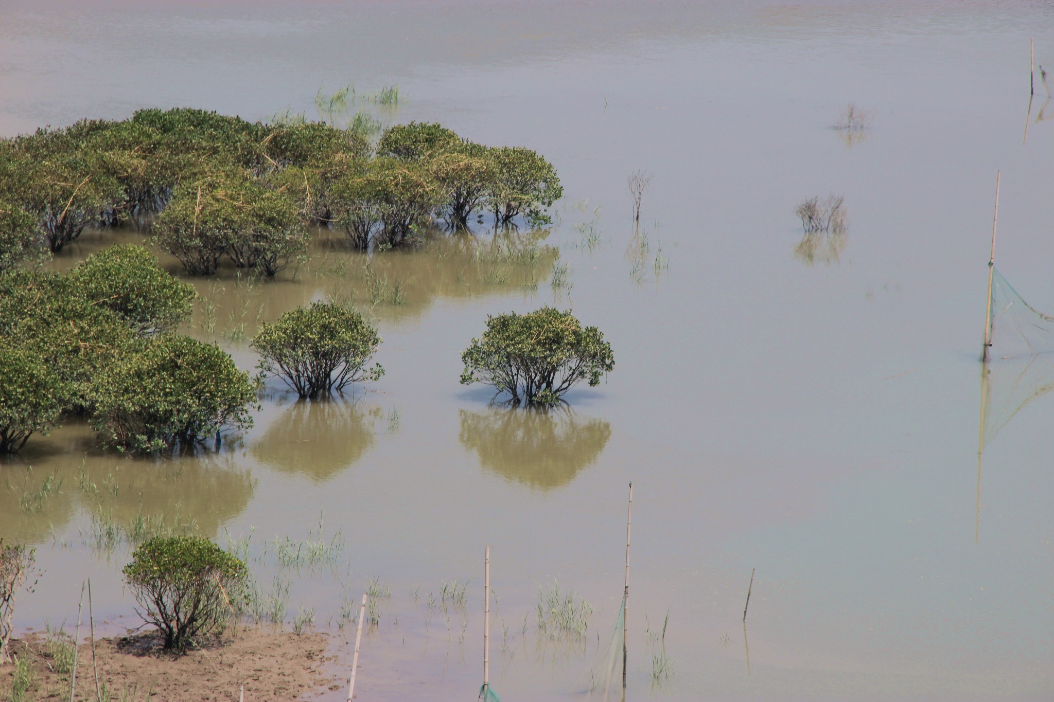
<path fill-rule="evenodd" d="M 260 354 L 259 377 L 281 378 L 301 398 L 314 399 L 348 384 L 377 380 L 385 369 L 364 367 L 380 344 L 363 316 L 335 304 L 315 302 L 265 323 L 253 338 Z"/>

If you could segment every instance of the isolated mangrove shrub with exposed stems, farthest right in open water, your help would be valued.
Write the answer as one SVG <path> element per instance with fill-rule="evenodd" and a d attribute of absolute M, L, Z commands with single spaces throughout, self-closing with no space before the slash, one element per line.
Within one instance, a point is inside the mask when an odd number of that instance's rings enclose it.
<path fill-rule="evenodd" d="M 488 316 L 483 337 L 462 354 L 461 382 L 493 385 L 513 402 L 551 405 L 577 383 L 590 386 L 614 368 L 611 345 L 596 326 L 553 307 Z"/>

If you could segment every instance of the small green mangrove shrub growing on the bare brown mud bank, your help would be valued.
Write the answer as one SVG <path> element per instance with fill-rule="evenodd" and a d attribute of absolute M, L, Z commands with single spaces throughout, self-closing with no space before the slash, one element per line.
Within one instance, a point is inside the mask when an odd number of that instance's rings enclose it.
<path fill-rule="evenodd" d="M 243 601 L 249 582 L 245 562 L 200 537 L 145 541 L 123 574 L 139 615 L 173 650 L 223 626 Z"/>

